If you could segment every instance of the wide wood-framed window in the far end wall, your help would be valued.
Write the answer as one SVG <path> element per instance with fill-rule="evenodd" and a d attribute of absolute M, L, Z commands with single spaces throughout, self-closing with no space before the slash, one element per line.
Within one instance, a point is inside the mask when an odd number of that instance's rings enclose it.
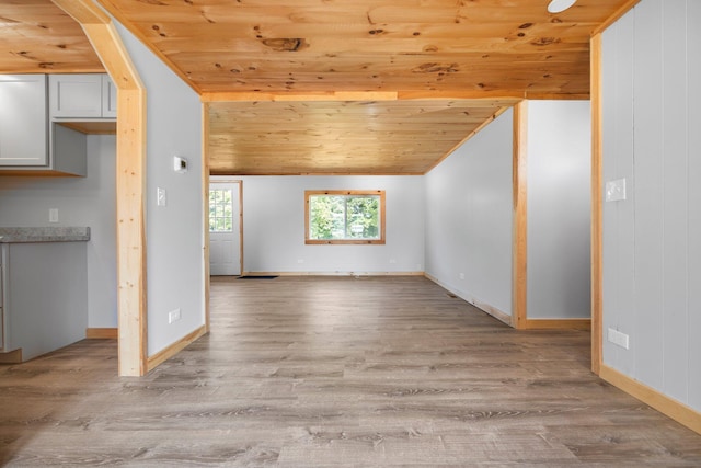
<path fill-rule="evenodd" d="M 384 191 L 307 191 L 304 243 L 384 243 Z"/>

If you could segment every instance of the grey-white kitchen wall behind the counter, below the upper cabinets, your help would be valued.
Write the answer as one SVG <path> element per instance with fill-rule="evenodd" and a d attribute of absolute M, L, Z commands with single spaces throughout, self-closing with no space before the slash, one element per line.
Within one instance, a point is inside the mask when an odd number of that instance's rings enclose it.
<path fill-rule="evenodd" d="M 0 227 L 88 226 L 88 323 L 117 326 L 114 136 L 88 136 L 88 176 L 0 176 Z M 58 208 L 59 222 L 48 222 Z"/>

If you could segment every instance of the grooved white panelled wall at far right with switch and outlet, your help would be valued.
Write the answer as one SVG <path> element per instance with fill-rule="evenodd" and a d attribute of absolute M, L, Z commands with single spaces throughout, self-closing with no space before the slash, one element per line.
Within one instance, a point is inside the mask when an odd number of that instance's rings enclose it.
<path fill-rule="evenodd" d="M 701 410 L 701 2 L 643 0 L 604 34 L 604 363 Z M 604 193 L 604 187 L 601 187 Z M 630 336 L 630 350 L 606 330 Z"/>

